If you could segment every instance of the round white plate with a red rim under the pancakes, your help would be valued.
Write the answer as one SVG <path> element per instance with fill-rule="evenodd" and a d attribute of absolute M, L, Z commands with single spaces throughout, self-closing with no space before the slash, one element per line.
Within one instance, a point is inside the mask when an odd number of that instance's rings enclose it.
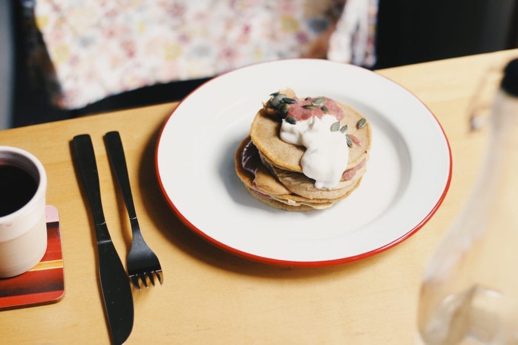
<path fill-rule="evenodd" d="M 371 124 L 361 185 L 322 211 L 269 207 L 234 170 L 262 102 L 285 87 L 350 104 Z M 252 65 L 203 84 L 166 120 L 155 163 L 165 199 L 194 232 L 239 256 L 289 266 L 340 264 L 400 243 L 434 214 L 451 178 L 448 140 L 419 99 L 372 71 L 321 59 Z"/>

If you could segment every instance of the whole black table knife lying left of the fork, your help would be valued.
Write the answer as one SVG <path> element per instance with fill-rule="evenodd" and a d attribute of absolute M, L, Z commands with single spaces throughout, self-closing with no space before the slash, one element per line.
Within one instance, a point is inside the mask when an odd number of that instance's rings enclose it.
<path fill-rule="evenodd" d="M 100 199 L 97 163 L 89 134 L 75 136 L 73 147 L 95 223 L 99 258 L 97 268 L 111 340 L 114 344 L 122 344 L 133 329 L 134 310 L 130 281 L 106 225 Z"/>

